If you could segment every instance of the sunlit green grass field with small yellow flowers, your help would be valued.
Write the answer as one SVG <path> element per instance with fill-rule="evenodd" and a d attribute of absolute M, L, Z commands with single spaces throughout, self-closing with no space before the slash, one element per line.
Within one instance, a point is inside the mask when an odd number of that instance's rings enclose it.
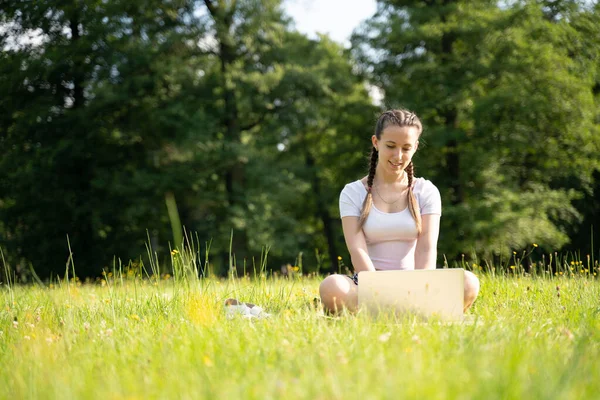
<path fill-rule="evenodd" d="M 598 280 L 479 276 L 451 325 L 327 317 L 315 277 L 5 286 L 0 398 L 598 398 Z M 227 319 L 228 297 L 272 316 Z"/>

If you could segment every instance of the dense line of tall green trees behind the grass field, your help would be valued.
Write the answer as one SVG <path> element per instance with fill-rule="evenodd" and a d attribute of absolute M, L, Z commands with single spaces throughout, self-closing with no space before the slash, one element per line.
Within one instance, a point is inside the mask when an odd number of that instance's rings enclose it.
<path fill-rule="evenodd" d="M 440 254 L 593 251 L 596 4 L 380 0 L 350 49 L 279 0 L 0 5 L 0 246 L 19 271 L 64 273 L 67 235 L 79 275 L 166 258 L 181 226 L 221 272 L 230 246 L 238 270 L 266 246 L 270 267 L 337 270 L 339 192 L 398 106 L 425 124 Z"/>

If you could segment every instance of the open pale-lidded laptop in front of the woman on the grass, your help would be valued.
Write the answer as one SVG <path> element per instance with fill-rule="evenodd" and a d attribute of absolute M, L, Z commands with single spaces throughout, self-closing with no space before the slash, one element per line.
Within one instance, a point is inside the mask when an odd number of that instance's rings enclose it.
<path fill-rule="evenodd" d="M 463 318 L 465 271 L 460 268 L 362 271 L 358 306 L 369 314 L 394 311 L 443 321 Z"/>

